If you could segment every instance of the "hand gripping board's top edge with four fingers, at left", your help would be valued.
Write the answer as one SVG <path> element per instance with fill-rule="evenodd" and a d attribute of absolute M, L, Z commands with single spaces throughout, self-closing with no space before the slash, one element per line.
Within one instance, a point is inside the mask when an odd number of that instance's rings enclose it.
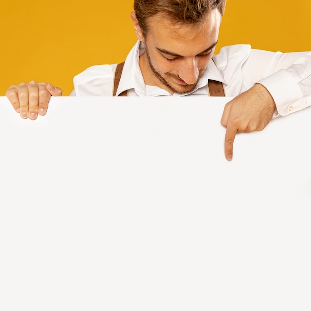
<path fill-rule="evenodd" d="M 21 83 L 10 86 L 5 96 L 23 119 L 35 120 L 46 114 L 51 96 L 62 96 L 62 90 L 50 83 Z"/>

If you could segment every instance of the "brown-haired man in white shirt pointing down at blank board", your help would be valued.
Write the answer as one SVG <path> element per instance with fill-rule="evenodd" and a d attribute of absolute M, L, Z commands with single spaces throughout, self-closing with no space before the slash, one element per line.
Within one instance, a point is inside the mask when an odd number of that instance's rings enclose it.
<path fill-rule="evenodd" d="M 272 117 L 311 105 L 311 52 L 272 53 L 248 45 L 213 55 L 225 0 L 135 0 L 131 13 L 138 42 L 128 54 L 116 96 L 208 96 L 212 80 L 226 96 L 225 156 L 232 159 L 236 133 L 261 131 Z M 111 96 L 116 64 L 93 66 L 74 78 L 74 96 Z M 51 84 L 13 85 L 7 97 L 21 117 L 44 115 Z"/>

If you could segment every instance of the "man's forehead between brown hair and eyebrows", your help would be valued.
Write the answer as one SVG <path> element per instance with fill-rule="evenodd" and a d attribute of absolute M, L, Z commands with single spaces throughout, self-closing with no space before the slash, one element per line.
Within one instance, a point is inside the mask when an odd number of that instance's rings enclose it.
<path fill-rule="evenodd" d="M 218 38 L 221 14 L 215 9 L 200 23 L 186 24 L 173 22 L 164 14 L 157 14 L 147 20 L 148 31 L 145 39 L 155 48 L 180 55 L 200 53 L 213 45 Z"/>

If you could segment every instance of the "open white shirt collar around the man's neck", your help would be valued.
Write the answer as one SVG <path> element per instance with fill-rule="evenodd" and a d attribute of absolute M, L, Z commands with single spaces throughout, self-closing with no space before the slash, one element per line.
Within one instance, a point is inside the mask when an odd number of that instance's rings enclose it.
<path fill-rule="evenodd" d="M 156 86 L 145 85 L 143 75 L 139 67 L 139 56 L 144 51 L 144 43 L 137 41 L 126 57 L 116 96 L 118 96 L 123 91 L 130 89 L 134 89 L 139 96 L 170 95 L 170 93 L 164 89 Z M 208 63 L 207 68 L 200 78 L 197 87 L 191 93 L 197 91 L 200 88 L 206 87 L 208 80 L 220 81 L 224 84 L 227 84 L 213 60 Z"/>

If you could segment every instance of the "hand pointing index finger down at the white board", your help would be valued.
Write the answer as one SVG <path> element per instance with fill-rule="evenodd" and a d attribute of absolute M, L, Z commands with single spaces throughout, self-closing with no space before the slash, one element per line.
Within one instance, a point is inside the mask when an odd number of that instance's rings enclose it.
<path fill-rule="evenodd" d="M 242 132 L 262 131 L 272 119 L 275 109 L 271 94 L 261 84 L 255 84 L 225 105 L 221 124 L 227 127 L 225 135 L 227 160 L 232 159 L 235 135 Z"/>

